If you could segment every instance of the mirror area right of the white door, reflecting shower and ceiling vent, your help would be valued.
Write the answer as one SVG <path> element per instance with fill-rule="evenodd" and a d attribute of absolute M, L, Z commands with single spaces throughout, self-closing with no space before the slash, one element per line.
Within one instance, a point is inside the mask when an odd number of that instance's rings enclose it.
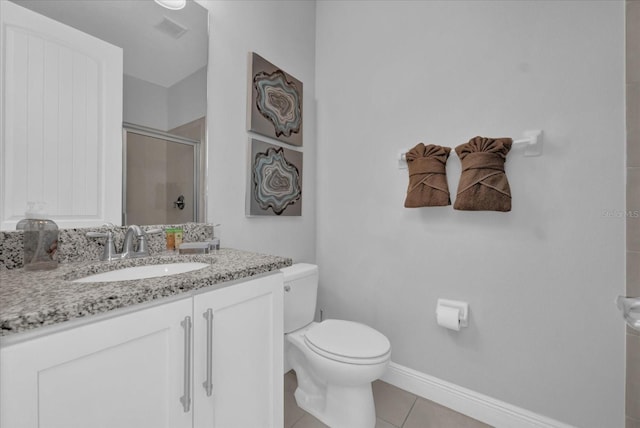
<path fill-rule="evenodd" d="M 12 1 L 123 49 L 123 224 L 204 221 L 208 11 L 192 0 L 177 11 L 151 0 Z"/>

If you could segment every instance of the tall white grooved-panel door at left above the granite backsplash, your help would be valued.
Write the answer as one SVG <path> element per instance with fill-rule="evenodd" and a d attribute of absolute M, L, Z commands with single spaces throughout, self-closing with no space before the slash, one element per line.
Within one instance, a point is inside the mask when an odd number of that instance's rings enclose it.
<path fill-rule="evenodd" d="M 0 1 L 0 230 L 121 222 L 122 49 Z"/>

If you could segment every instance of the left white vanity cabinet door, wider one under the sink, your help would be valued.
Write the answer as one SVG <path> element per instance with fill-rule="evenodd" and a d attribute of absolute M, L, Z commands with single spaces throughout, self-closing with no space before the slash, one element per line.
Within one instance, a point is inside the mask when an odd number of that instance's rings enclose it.
<path fill-rule="evenodd" d="M 191 427 L 191 313 L 188 298 L 0 348 L 0 426 Z"/>

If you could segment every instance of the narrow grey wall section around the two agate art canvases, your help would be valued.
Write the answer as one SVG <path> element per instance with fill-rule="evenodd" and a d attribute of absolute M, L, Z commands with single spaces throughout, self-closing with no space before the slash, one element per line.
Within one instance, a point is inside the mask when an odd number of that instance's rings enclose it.
<path fill-rule="evenodd" d="M 208 69 L 208 210 L 221 223 L 222 246 L 315 261 L 315 2 L 199 1 L 210 10 Z M 303 188 L 301 217 L 245 216 L 248 55 L 257 52 L 301 80 Z M 262 138 L 262 137 L 260 137 Z"/>

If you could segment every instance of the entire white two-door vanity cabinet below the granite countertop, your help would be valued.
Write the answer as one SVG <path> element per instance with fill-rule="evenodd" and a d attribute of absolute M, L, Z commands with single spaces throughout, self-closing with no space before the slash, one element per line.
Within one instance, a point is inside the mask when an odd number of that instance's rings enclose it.
<path fill-rule="evenodd" d="M 9 343 L 0 427 L 280 427 L 282 331 L 274 274 Z"/>

